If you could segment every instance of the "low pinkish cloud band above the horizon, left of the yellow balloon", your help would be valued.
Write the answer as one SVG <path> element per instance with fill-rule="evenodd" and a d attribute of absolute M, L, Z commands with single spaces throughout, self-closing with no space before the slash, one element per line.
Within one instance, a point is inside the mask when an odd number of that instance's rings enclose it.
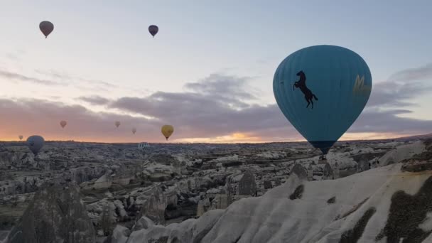
<path fill-rule="evenodd" d="M 109 112 L 92 112 L 80 105 L 43 99 L 0 99 L 0 138 L 16 139 L 18 134 L 39 134 L 45 139 L 75 141 L 163 141 L 160 124 L 143 118 Z M 62 129 L 60 120 L 68 121 Z M 115 128 L 114 121 L 121 121 Z M 136 127 L 136 134 L 131 128 Z"/>

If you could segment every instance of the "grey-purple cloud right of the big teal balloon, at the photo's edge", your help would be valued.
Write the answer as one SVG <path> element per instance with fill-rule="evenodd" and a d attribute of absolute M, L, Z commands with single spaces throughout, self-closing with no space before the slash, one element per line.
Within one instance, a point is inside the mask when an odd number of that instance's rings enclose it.
<path fill-rule="evenodd" d="M 427 95 L 432 86 L 421 82 L 432 77 L 432 65 L 396 72 L 387 81 L 374 85 L 365 110 L 348 129 L 352 133 L 422 134 L 432 129 L 431 120 L 399 117 L 412 113 L 407 107 L 417 104 L 416 97 Z M 405 109 L 401 109 L 405 108 Z"/>

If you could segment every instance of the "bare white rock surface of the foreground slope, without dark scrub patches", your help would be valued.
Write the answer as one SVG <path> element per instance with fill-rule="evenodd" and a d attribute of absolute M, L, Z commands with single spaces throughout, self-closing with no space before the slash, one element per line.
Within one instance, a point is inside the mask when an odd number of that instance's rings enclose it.
<path fill-rule="evenodd" d="M 394 164 L 338 180 L 301 181 L 293 175 L 264 196 L 239 200 L 227 210 L 211 210 L 198 220 L 132 232 L 128 243 L 161 238 L 168 242 L 175 238 L 180 242 L 339 242 L 371 208 L 376 212 L 358 242 L 374 242 L 386 226 L 394 193 L 403 190 L 414 195 L 431 176 L 402 173 L 400 167 Z M 304 185 L 303 195 L 291 200 L 299 185 Z M 333 197 L 335 203 L 329 204 Z M 424 229 L 430 226 L 428 219 L 421 225 Z"/>

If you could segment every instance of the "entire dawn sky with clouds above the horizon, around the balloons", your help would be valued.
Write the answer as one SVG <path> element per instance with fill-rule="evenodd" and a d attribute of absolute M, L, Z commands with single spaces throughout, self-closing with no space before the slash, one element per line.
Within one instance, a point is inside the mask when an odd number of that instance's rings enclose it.
<path fill-rule="evenodd" d="M 273 76 L 320 44 L 354 50 L 372 72 L 342 140 L 430 133 L 431 11 L 420 0 L 6 1 L 0 140 L 162 142 L 173 124 L 171 142 L 301 141 Z M 46 39 L 41 21 L 55 26 Z"/>

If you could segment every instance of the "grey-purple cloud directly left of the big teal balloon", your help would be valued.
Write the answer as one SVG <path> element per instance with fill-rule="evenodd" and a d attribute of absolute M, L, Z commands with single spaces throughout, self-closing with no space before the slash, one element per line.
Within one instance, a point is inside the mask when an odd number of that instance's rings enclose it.
<path fill-rule="evenodd" d="M 220 79 L 219 79 L 220 78 Z M 220 85 L 218 81 L 220 80 Z M 156 92 L 148 97 L 122 97 L 109 107 L 134 112 L 180 127 L 180 137 L 224 136 L 236 132 L 265 133 L 288 126 L 276 104 L 259 106 L 247 92 L 247 78 L 210 75 L 185 85 L 194 92 Z M 239 109 L 241 107 L 241 109 Z"/>

